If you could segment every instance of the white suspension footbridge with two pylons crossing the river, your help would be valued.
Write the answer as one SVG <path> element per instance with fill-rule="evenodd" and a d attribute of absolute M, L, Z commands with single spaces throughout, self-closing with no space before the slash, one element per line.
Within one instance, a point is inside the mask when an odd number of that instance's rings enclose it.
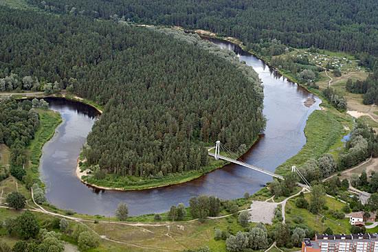
<path fill-rule="evenodd" d="M 214 153 L 212 152 L 213 149 L 215 149 Z M 225 154 L 221 155 L 221 153 L 225 153 Z M 214 159 L 216 159 L 216 160 L 219 160 L 219 159 L 225 160 L 227 162 L 235 163 L 236 165 L 241 165 L 245 168 L 252 169 L 256 172 L 261 172 L 263 174 L 273 176 L 276 179 L 285 180 L 285 178 L 283 176 L 281 176 L 280 174 L 276 174 L 276 173 L 271 172 L 269 170 L 265 170 L 263 168 L 259 168 L 259 167 L 255 166 L 255 165 L 251 165 L 249 163 L 246 163 L 245 161 L 243 161 L 243 159 L 238 157 L 237 154 L 235 154 L 234 152 L 229 150 L 227 147 L 225 147 L 223 144 L 221 144 L 221 141 L 216 141 L 216 145 L 208 150 L 208 154 L 209 154 L 209 156 L 214 157 Z M 227 156 L 227 157 L 225 157 L 225 156 Z M 299 185 L 300 187 L 307 187 L 307 188 L 311 187 L 310 183 L 307 181 L 306 178 L 304 178 L 304 176 L 300 173 L 300 171 L 296 168 L 296 166 L 291 167 L 291 172 L 296 172 L 298 174 L 298 176 L 300 177 L 300 179 L 302 179 L 302 181 L 304 182 L 304 184 L 297 183 L 297 185 Z"/>

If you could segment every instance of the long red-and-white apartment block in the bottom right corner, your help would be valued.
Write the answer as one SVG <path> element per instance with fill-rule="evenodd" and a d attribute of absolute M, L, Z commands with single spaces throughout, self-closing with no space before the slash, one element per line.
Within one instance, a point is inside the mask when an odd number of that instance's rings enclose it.
<path fill-rule="evenodd" d="M 302 252 L 378 252 L 377 233 L 316 235 L 304 239 Z"/>

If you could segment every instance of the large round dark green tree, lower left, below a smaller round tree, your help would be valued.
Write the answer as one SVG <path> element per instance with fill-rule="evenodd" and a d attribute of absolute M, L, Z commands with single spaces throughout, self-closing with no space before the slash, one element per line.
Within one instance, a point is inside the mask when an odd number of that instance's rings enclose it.
<path fill-rule="evenodd" d="M 31 211 L 25 211 L 21 216 L 16 218 L 19 226 L 19 236 L 24 240 L 36 238 L 39 232 L 39 225 Z"/>

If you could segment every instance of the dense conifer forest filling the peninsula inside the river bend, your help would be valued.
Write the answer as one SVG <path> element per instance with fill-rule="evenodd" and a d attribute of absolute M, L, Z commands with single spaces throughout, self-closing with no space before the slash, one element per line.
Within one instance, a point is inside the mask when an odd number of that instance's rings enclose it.
<path fill-rule="evenodd" d="M 256 73 L 197 35 L 7 8 L 0 23 L 6 83 L 30 76 L 28 87 L 104 105 L 85 148 L 104 172 L 198 170 L 208 162 L 205 144 L 245 148 L 265 126 Z"/>

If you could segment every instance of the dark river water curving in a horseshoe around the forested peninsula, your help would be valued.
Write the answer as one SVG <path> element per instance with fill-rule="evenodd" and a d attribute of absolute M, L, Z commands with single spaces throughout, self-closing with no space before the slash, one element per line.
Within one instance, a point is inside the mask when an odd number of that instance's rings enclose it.
<path fill-rule="evenodd" d="M 319 109 L 320 99 L 297 84 L 272 71 L 258 58 L 241 51 L 230 43 L 213 41 L 225 49 L 236 51 L 241 60 L 254 68 L 264 84 L 264 114 L 267 117 L 265 135 L 245 154 L 243 160 L 274 171 L 278 165 L 296 154 L 306 143 L 304 126 L 307 117 Z M 304 101 L 315 98 L 311 107 Z M 50 108 L 58 111 L 63 123 L 54 137 L 43 147 L 41 174 L 46 184 L 47 200 L 60 209 L 72 209 L 82 214 L 115 214 L 120 202 L 129 205 L 129 214 L 151 214 L 166 211 L 171 205 L 184 203 L 199 194 L 219 198 L 240 198 L 271 181 L 271 177 L 238 165 L 226 165 L 200 179 L 153 190 L 117 192 L 87 187 L 76 177 L 76 159 L 96 120 L 94 108 L 67 100 L 47 99 Z"/>

